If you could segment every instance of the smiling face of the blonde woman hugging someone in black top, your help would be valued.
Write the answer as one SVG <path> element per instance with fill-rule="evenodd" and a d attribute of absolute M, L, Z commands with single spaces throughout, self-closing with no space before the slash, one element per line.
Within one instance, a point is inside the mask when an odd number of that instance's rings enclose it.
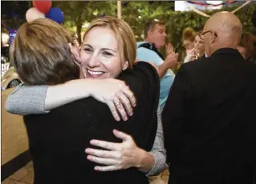
<path fill-rule="evenodd" d="M 80 51 L 81 68 L 86 78 L 116 78 L 128 62 L 121 62 L 116 34 L 107 27 L 95 26 L 85 35 Z"/>

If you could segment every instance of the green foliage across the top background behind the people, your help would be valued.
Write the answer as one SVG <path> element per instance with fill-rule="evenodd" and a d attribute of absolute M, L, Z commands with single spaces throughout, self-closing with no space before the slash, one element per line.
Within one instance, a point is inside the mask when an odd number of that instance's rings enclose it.
<path fill-rule="evenodd" d="M 241 3 L 238 3 L 238 6 Z M 91 22 L 92 19 L 100 17 L 100 15 L 116 16 L 116 1 L 53 2 L 53 6 L 63 10 L 65 15 L 64 25 L 73 27 L 73 29 L 74 26 L 79 28 L 84 22 Z M 221 10 L 232 11 L 238 6 L 223 7 Z M 205 13 L 211 15 L 221 10 L 207 10 Z M 250 2 L 250 5 L 243 7 L 235 13 L 240 18 L 243 29 L 249 32 L 254 30 L 251 22 L 254 10 L 256 10 L 256 3 Z M 95 11 L 98 14 L 93 14 Z M 196 31 L 202 30 L 208 19 L 193 11 L 174 11 L 173 1 L 122 1 L 122 18 L 132 27 L 137 41 L 142 40 L 141 34 L 143 34 L 144 24 L 148 20 L 156 18 L 165 21 L 169 41 L 173 43 L 173 46 L 178 47 L 179 51 L 182 48 L 182 30 L 188 26 L 193 27 Z"/>

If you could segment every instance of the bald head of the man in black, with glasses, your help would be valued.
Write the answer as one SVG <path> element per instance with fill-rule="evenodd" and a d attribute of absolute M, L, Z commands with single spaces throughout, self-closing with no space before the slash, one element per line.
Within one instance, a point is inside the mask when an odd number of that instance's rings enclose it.
<path fill-rule="evenodd" d="M 205 23 L 204 32 L 208 30 L 211 31 L 204 38 L 206 53 L 210 55 L 224 47 L 236 48 L 241 39 L 242 24 L 234 14 L 221 11 Z"/>

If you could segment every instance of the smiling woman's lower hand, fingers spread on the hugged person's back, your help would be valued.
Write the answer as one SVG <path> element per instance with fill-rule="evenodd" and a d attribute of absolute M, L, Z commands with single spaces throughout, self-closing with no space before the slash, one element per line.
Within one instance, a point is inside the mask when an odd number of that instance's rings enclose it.
<path fill-rule="evenodd" d="M 144 160 L 144 150 L 136 146 L 132 137 L 118 130 L 113 130 L 116 138 L 123 140 L 122 143 L 91 140 L 92 146 L 99 146 L 107 150 L 96 150 L 87 148 L 87 159 L 91 162 L 107 166 L 95 166 L 95 170 L 112 171 L 124 170 L 130 167 L 141 167 Z"/>

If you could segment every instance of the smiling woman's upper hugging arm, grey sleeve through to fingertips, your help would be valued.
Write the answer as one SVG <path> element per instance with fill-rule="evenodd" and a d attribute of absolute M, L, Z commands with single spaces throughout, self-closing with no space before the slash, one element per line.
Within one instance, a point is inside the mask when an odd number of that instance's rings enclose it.
<path fill-rule="evenodd" d="M 45 114 L 56 107 L 63 106 L 81 98 L 92 96 L 108 105 L 117 121 L 132 114 L 132 105 L 136 99 L 128 86 L 120 80 L 77 79 L 56 86 L 18 86 L 6 99 L 6 110 L 11 114 Z M 114 102 L 121 96 L 124 106 L 116 109 Z M 125 110 L 124 110 L 125 109 Z"/>

